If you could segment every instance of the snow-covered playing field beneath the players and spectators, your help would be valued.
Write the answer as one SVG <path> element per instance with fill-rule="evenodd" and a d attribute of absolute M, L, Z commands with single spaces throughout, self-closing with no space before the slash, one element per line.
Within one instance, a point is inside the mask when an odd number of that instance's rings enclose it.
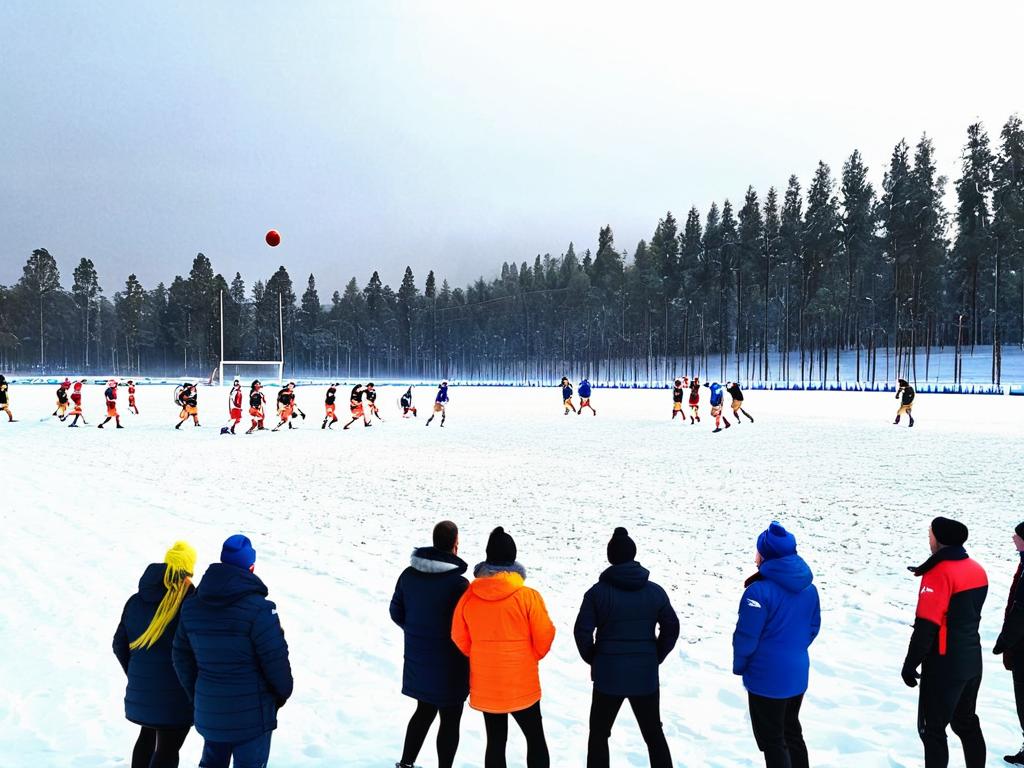
<path fill-rule="evenodd" d="M 306 387 L 300 429 L 231 437 L 218 434 L 226 390 L 201 388 L 203 428 L 177 432 L 169 387 L 140 387 L 142 415 L 125 414 L 121 431 L 40 421 L 51 387 L 11 394 L 20 422 L 0 420 L 0 766 L 126 766 L 136 729 L 111 652 L 121 607 L 174 540 L 197 547 L 202 572 L 237 531 L 254 542 L 291 644 L 295 696 L 271 765 L 392 766 L 414 703 L 399 692 L 388 601 L 442 518 L 459 523 L 471 566 L 505 525 L 547 601 L 558 630 L 541 664 L 554 766 L 585 763 L 590 682 L 571 629 L 620 524 L 682 623 L 662 668 L 676 764 L 762 765 L 730 638 L 754 539 L 775 518 L 796 531 L 821 592 L 803 710 L 812 764 L 910 768 L 922 758 L 916 691 L 899 677 L 918 584 L 906 566 L 928 555 L 934 515 L 967 522 L 992 585 L 990 648 L 1024 517 L 1024 397 L 922 396 L 906 429 L 890 424 L 892 395 L 753 393 L 757 423 L 712 434 L 706 404 L 700 425 L 670 421 L 668 391 L 596 390 L 594 418 L 563 417 L 556 389 L 458 387 L 447 426 L 425 429 L 432 390 L 417 390 L 420 419 L 403 421 L 398 389 L 383 388 L 385 423 L 325 433 L 323 388 Z M 87 387 L 90 422 L 101 407 L 101 389 Z M 987 652 L 980 715 L 989 765 L 1000 765 L 1020 733 L 1010 675 Z M 418 764 L 436 765 L 432 743 Z M 522 765 L 514 727 L 509 744 L 510 765 Z M 182 765 L 200 749 L 194 732 Z M 482 755 L 482 718 L 467 712 L 457 764 Z M 646 765 L 628 709 L 612 756 Z M 951 765 L 963 765 L 956 749 Z"/>

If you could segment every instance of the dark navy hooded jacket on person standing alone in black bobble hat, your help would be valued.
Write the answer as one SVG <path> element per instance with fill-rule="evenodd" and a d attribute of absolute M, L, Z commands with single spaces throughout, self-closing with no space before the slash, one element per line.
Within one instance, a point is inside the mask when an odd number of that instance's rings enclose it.
<path fill-rule="evenodd" d="M 612 565 L 584 595 L 573 635 L 601 693 L 645 696 L 658 689 L 657 667 L 679 639 L 679 620 L 649 578 L 638 562 Z"/>

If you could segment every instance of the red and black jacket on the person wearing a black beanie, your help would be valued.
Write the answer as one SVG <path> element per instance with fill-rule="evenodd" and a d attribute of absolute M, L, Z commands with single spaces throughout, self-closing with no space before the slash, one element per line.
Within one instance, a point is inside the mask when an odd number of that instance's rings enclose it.
<path fill-rule="evenodd" d="M 963 547 L 943 547 L 924 564 L 918 611 L 904 667 L 923 675 L 970 680 L 981 674 L 981 608 L 988 595 L 984 568 Z"/>

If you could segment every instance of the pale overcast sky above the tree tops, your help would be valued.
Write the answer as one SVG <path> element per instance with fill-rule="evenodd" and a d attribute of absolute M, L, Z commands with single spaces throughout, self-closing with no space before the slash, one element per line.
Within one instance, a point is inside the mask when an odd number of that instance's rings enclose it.
<path fill-rule="evenodd" d="M 503 260 L 632 251 L 691 205 L 1024 113 L 1024 3 L 0 5 L 0 284 L 32 249 L 108 294 L 202 251 L 322 298 L 374 268 L 453 285 Z M 263 244 L 274 227 L 283 242 Z"/>

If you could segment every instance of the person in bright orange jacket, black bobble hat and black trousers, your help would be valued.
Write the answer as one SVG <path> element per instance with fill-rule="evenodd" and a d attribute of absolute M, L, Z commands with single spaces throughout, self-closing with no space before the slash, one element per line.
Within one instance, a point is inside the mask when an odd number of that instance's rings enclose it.
<path fill-rule="evenodd" d="M 505 528 L 490 532 L 486 554 L 452 618 L 452 640 L 469 656 L 469 706 L 483 713 L 487 731 L 483 766 L 505 768 L 512 715 L 526 738 L 527 768 L 549 768 L 538 663 L 551 649 L 555 627 L 540 593 L 523 585 L 526 569 Z"/>

